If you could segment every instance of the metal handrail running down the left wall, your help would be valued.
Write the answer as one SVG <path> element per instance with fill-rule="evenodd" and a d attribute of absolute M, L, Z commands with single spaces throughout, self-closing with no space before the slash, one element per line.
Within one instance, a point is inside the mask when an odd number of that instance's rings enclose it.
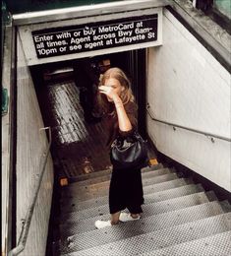
<path fill-rule="evenodd" d="M 28 240 L 29 226 L 30 226 L 30 223 L 31 223 L 34 206 L 35 206 L 35 203 L 36 203 L 36 200 L 37 200 L 37 195 L 38 195 L 38 192 L 39 192 L 39 189 L 40 189 L 43 174 L 45 172 L 45 166 L 46 166 L 46 162 L 47 162 L 47 159 L 48 159 L 50 146 L 51 146 L 51 129 L 50 129 L 50 127 L 41 128 L 40 130 L 48 130 L 49 131 L 48 147 L 46 149 L 46 152 L 43 153 L 43 155 L 42 155 L 42 157 L 44 158 L 44 161 L 43 161 L 43 164 L 42 164 L 41 173 L 39 174 L 38 182 L 36 184 L 35 193 L 33 194 L 31 203 L 29 204 L 29 209 L 28 209 L 26 219 L 22 220 L 23 226 L 22 226 L 22 229 L 21 229 L 18 245 L 17 245 L 17 247 L 13 248 L 8 253 L 8 256 L 19 255 L 25 249 L 25 246 L 26 246 L 26 243 L 27 243 L 27 240 Z"/>

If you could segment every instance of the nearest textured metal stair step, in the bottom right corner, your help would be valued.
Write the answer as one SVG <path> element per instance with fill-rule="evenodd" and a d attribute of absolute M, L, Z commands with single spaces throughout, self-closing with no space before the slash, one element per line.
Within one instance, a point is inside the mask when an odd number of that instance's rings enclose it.
<path fill-rule="evenodd" d="M 142 256 L 178 256 L 179 253 L 180 255 L 229 256 L 231 255 L 231 231 L 144 253 Z"/>

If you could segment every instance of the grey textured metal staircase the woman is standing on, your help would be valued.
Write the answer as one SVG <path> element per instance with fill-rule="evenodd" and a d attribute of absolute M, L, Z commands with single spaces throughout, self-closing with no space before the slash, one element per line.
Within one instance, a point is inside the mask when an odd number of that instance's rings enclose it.
<path fill-rule="evenodd" d="M 54 255 L 231 255 L 231 206 L 174 169 L 143 170 L 141 220 L 96 229 L 109 220 L 111 170 L 79 176 L 62 189 Z M 126 210 L 125 210 L 126 211 Z"/>

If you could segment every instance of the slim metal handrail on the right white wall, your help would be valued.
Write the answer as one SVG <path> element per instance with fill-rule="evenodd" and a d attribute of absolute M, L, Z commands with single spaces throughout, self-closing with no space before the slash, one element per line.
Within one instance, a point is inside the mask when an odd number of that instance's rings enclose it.
<path fill-rule="evenodd" d="M 212 143 L 214 143 L 214 139 L 213 138 L 220 139 L 220 140 L 227 141 L 227 142 L 231 142 L 230 138 L 227 138 L 227 137 L 224 137 L 224 136 L 220 136 L 220 135 L 204 132 L 204 131 L 201 131 L 201 130 L 198 130 L 198 129 L 193 129 L 193 128 L 190 128 L 190 127 L 186 127 L 186 126 L 182 126 L 182 125 L 179 125 L 179 124 L 170 123 L 170 122 L 167 122 L 167 121 L 163 121 L 163 120 L 154 118 L 153 115 L 150 112 L 150 105 L 148 103 L 146 104 L 146 111 L 147 111 L 148 115 L 150 116 L 150 118 L 152 120 L 154 120 L 156 122 L 159 122 L 159 123 L 163 123 L 163 124 L 167 124 L 167 125 L 173 126 L 174 130 L 176 129 L 176 127 L 178 127 L 178 128 L 181 128 L 181 129 L 185 129 L 185 130 L 191 131 L 191 132 L 202 134 L 202 135 L 204 135 L 206 137 L 211 137 L 211 142 Z"/>

